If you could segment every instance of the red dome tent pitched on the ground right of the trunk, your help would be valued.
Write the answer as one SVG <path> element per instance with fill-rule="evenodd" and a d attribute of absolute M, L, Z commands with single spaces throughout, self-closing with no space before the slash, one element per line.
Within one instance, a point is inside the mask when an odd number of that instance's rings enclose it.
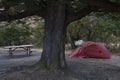
<path fill-rule="evenodd" d="M 81 46 L 69 54 L 69 57 L 110 59 L 111 54 L 103 44 L 88 41 L 82 43 Z"/>

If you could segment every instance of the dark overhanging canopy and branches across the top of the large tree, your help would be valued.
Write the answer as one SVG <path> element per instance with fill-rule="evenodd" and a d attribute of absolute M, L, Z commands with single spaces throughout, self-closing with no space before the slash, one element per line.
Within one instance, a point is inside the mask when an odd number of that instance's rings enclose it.
<path fill-rule="evenodd" d="M 11 21 L 32 15 L 44 18 L 47 7 L 59 3 L 66 5 L 68 23 L 93 11 L 120 11 L 119 0 L 1 0 L 0 21 Z"/>

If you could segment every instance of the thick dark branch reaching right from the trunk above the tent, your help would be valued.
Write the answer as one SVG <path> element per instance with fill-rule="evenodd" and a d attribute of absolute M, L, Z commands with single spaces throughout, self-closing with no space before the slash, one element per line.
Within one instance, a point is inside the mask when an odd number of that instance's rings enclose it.
<path fill-rule="evenodd" d="M 68 13 L 67 23 L 81 19 L 82 17 L 86 16 L 91 12 L 120 12 L 120 4 L 118 3 L 110 2 L 108 0 L 106 1 L 90 0 L 90 1 L 83 0 L 83 2 L 87 3 L 89 6 L 86 6 L 85 8 L 77 12 L 71 11 L 74 13 Z"/>

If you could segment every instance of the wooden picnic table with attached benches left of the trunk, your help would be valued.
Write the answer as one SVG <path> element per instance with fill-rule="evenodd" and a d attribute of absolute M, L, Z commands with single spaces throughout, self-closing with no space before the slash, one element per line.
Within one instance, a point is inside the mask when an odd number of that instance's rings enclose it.
<path fill-rule="evenodd" d="M 17 45 L 17 46 L 5 46 L 5 49 L 8 49 L 9 56 L 13 55 L 13 52 L 16 51 L 18 48 L 22 48 L 27 52 L 27 54 L 31 55 L 31 48 L 33 45 Z"/>

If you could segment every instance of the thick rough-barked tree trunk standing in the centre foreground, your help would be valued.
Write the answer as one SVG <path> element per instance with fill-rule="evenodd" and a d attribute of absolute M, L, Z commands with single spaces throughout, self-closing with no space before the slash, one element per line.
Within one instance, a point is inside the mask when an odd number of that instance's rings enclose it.
<path fill-rule="evenodd" d="M 56 2 L 56 1 L 55 1 Z M 40 65 L 46 68 L 65 68 L 65 6 L 59 2 L 49 4 L 45 18 L 45 36 Z"/>

